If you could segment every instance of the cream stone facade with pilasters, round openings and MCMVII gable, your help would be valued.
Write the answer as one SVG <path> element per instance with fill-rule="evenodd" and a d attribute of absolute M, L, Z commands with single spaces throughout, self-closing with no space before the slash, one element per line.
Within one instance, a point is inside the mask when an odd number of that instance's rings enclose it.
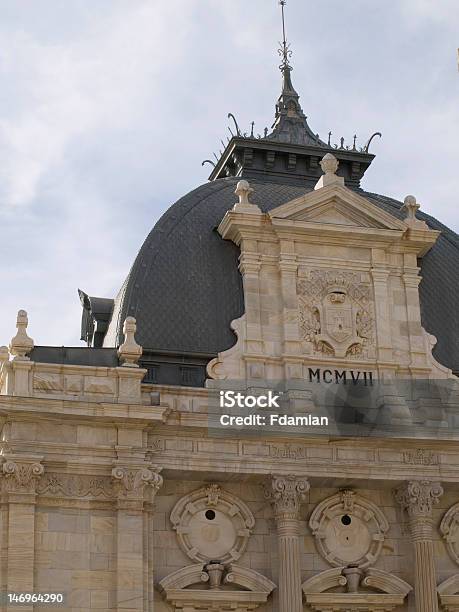
<path fill-rule="evenodd" d="M 459 610 L 459 391 L 418 297 L 437 232 L 411 196 L 401 221 L 347 189 L 331 157 L 269 214 L 239 183 L 219 232 L 246 312 L 207 388 L 143 383 L 132 318 L 119 367 L 33 362 L 20 311 L 0 349 L 3 592 L 74 612 Z M 212 425 L 216 391 L 274 381 L 317 414 L 364 383 L 381 419 L 365 400 L 365 435 Z"/>

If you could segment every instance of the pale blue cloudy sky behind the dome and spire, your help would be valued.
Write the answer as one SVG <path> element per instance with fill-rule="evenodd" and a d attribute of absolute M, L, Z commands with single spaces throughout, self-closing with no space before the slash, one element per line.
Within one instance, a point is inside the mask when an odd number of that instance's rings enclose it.
<path fill-rule="evenodd" d="M 364 144 L 362 186 L 459 231 L 459 2 L 288 0 L 308 122 Z M 205 183 L 228 112 L 280 93 L 277 0 L 0 2 L 0 345 L 80 346 L 77 288 L 115 297 L 145 237 Z"/>

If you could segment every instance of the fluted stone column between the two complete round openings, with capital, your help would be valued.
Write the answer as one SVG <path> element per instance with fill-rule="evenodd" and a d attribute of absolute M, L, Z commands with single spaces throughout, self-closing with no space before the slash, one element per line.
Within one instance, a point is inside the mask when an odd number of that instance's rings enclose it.
<path fill-rule="evenodd" d="M 306 478 L 272 476 L 265 496 L 272 503 L 279 551 L 279 612 L 303 612 L 299 516 L 309 490 Z"/>

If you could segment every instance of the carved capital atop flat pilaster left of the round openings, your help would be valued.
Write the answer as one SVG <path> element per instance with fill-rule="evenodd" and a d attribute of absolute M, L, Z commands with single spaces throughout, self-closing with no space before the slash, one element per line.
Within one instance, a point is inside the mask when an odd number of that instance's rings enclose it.
<path fill-rule="evenodd" d="M 163 484 L 160 471 L 161 468 L 156 467 L 114 467 L 112 479 L 116 496 L 119 500 L 143 501 L 147 487 L 150 500 L 154 499 Z"/>

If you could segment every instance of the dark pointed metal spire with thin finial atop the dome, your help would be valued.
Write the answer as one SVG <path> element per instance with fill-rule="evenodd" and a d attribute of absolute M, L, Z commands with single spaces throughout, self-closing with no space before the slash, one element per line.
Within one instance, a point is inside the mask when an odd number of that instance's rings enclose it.
<path fill-rule="evenodd" d="M 292 84 L 290 77 L 293 70 L 290 64 L 292 51 L 285 34 L 284 7 L 287 0 L 279 0 L 279 4 L 282 14 L 282 42 L 279 43 L 278 53 L 282 60 L 279 66 L 282 73 L 282 92 L 276 104 L 276 116 L 272 125 L 273 131 L 266 138 L 292 144 L 325 146 L 325 143 L 318 139 L 308 126 L 306 116 L 300 105 L 300 96 Z"/>

